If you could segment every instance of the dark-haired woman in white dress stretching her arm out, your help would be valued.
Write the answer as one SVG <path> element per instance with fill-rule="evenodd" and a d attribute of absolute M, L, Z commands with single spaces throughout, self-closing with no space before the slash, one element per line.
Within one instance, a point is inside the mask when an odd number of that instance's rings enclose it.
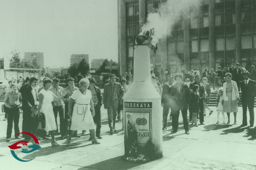
<path fill-rule="evenodd" d="M 54 131 L 57 129 L 56 123 L 55 123 L 55 117 L 52 109 L 52 101 L 54 100 L 60 100 L 62 99 L 67 92 L 64 92 L 63 96 L 57 97 L 52 93 L 52 91 L 49 91 L 49 88 L 51 87 L 52 80 L 49 78 L 45 78 L 43 82 L 44 88 L 39 92 L 39 106 L 38 106 L 38 116 L 40 116 L 41 113 L 44 114 L 46 117 L 46 128 L 44 130 L 49 131 L 49 134 L 52 137 L 52 146 L 60 146 L 55 141 Z"/>

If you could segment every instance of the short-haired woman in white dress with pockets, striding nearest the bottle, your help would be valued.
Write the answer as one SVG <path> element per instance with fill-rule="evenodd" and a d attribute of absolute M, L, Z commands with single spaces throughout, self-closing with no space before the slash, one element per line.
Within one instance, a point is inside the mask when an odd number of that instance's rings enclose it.
<path fill-rule="evenodd" d="M 73 92 L 69 104 L 68 114 L 71 116 L 71 128 L 67 138 L 67 146 L 71 146 L 71 138 L 76 130 L 90 130 L 92 143 L 100 144 L 95 137 L 93 117 L 95 115 L 92 94 L 88 90 L 90 82 L 88 79 L 81 79 L 79 82 L 79 90 Z M 76 103 L 72 112 L 72 103 Z M 91 112 L 92 111 L 92 112 Z"/>

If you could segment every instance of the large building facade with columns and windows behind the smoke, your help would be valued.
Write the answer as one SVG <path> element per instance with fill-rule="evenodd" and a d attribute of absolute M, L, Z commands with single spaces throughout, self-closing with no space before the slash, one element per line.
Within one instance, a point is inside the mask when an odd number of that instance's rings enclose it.
<path fill-rule="evenodd" d="M 148 12 L 167 0 L 118 1 L 119 72 L 130 71 L 135 37 L 146 23 Z M 172 0 L 168 0 L 172 1 Z M 175 4 L 174 4 L 175 6 Z M 182 12 L 181 12 L 182 13 Z M 256 1 L 203 0 L 189 17 L 176 17 L 169 36 L 159 40 L 159 50 L 151 52 L 154 70 L 217 69 L 240 63 L 248 69 L 256 65 Z"/>

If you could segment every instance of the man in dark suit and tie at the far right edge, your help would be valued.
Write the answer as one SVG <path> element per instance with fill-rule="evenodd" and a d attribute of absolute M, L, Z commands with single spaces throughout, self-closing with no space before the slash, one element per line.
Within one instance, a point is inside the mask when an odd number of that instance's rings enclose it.
<path fill-rule="evenodd" d="M 247 107 L 250 114 L 250 127 L 254 125 L 254 97 L 256 95 L 256 82 L 249 79 L 250 73 L 243 72 L 245 80 L 240 82 L 242 91 L 242 108 L 243 108 L 243 123 L 241 126 L 247 126 Z"/>

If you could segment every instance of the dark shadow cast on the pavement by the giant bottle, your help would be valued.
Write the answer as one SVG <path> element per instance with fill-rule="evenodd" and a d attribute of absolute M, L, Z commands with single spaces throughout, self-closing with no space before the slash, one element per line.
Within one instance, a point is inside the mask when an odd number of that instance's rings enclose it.
<path fill-rule="evenodd" d="M 146 164 L 145 163 L 131 163 L 123 160 L 123 156 L 118 156 L 112 159 L 104 160 L 102 162 L 92 164 L 86 167 L 81 167 L 77 170 L 87 170 L 87 169 L 118 169 L 118 170 L 126 170 L 134 167 L 138 167 L 139 165 Z"/>

